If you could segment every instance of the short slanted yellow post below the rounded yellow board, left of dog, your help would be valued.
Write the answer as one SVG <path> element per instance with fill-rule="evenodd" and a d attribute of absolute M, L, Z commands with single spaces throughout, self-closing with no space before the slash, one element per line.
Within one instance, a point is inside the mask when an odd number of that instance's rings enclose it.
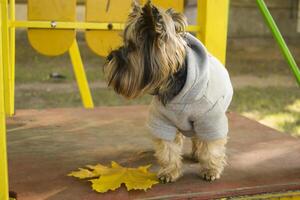
<path fill-rule="evenodd" d="M 84 71 L 84 67 L 82 64 L 80 51 L 79 51 L 76 39 L 74 40 L 74 42 L 69 50 L 69 54 L 71 57 L 71 61 L 72 61 L 75 77 L 77 80 L 77 85 L 79 87 L 83 106 L 85 108 L 94 108 L 92 95 L 90 92 L 89 84 L 88 84 L 88 81 L 86 78 L 86 74 Z"/>

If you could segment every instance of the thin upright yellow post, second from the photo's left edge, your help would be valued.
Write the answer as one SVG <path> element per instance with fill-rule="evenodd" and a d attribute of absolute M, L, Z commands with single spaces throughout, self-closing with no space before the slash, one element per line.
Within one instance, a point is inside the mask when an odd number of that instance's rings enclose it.
<path fill-rule="evenodd" d="M 10 10 L 10 22 L 14 22 L 15 17 L 15 0 L 9 1 L 9 10 Z M 10 34 L 10 68 L 9 68 L 9 84 L 10 84 L 10 115 L 14 114 L 15 111 L 15 35 L 16 35 L 16 28 L 11 26 L 9 27 L 9 34 Z"/>

